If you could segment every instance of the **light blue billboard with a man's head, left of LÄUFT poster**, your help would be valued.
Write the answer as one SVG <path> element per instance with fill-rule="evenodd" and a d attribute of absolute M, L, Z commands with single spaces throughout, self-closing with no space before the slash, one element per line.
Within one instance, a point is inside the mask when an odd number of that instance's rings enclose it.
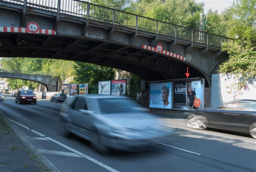
<path fill-rule="evenodd" d="M 149 108 L 172 108 L 172 82 L 150 83 Z"/>

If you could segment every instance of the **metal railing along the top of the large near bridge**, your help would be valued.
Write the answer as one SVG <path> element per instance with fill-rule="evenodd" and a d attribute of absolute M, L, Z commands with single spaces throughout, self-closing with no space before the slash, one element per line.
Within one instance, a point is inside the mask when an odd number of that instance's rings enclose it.
<path fill-rule="evenodd" d="M 202 43 L 214 47 L 222 47 L 224 42 L 233 39 L 216 34 L 174 25 L 150 19 L 136 14 L 91 4 L 80 0 L 3 0 L 10 3 L 27 5 L 46 11 L 67 14 L 87 20 L 95 20 L 108 24 L 124 26 L 140 31 L 170 36 L 191 42 Z"/>

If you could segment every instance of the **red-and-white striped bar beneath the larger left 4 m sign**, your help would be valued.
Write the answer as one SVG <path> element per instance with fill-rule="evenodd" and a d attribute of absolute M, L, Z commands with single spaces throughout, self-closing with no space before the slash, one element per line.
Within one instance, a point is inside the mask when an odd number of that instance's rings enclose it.
<path fill-rule="evenodd" d="M 31 33 L 25 27 L 1 27 L 0 32 L 14 32 L 14 33 Z M 55 30 L 51 29 L 39 29 L 35 34 L 49 34 L 56 35 Z"/>

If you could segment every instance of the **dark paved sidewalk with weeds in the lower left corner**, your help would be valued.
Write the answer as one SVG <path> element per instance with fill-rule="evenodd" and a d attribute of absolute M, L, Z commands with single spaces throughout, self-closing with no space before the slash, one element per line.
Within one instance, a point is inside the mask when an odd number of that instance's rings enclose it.
<path fill-rule="evenodd" d="M 17 132 L 19 133 L 19 131 Z M 30 149 L 28 144 L 25 144 L 16 133 L 0 114 L 0 171 L 52 171 L 38 158 L 40 154 L 36 150 Z"/>

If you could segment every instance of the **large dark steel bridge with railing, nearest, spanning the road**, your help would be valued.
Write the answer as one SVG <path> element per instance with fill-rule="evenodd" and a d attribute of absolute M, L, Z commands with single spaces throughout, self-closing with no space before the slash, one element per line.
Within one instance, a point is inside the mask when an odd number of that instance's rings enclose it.
<path fill-rule="evenodd" d="M 189 66 L 189 78 L 204 78 L 205 87 L 228 59 L 221 47 L 232 40 L 219 35 L 78 0 L 40 2 L 0 1 L 0 56 L 100 64 L 146 81 L 185 78 Z M 42 30 L 26 30 L 31 21 Z M 157 44 L 171 54 L 143 48 Z"/>

